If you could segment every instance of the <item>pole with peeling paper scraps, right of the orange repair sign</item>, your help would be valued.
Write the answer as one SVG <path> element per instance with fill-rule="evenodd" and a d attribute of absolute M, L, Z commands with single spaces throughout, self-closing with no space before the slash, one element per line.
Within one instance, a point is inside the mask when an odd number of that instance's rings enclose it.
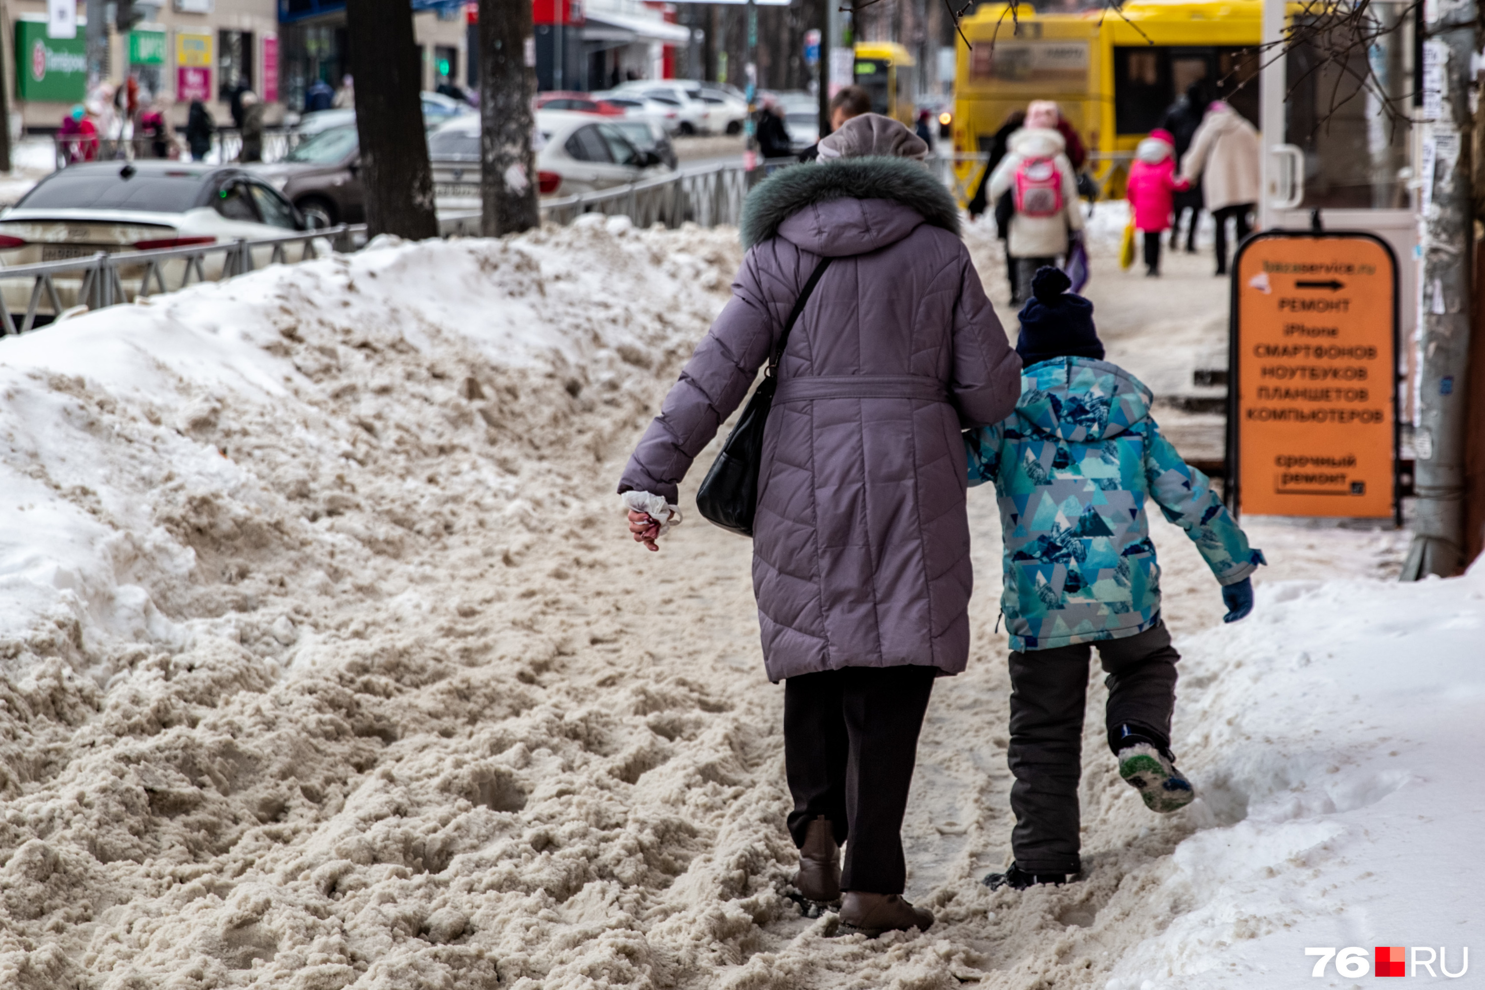
<path fill-rule="evenodd" d="M 1475 0 L 1430 3 L 1424 55 L 1423 312 L 1414 380 L 1414 539 L 1402 579 L 1464 566 L 1464 427 L 1470 347 Z"/>

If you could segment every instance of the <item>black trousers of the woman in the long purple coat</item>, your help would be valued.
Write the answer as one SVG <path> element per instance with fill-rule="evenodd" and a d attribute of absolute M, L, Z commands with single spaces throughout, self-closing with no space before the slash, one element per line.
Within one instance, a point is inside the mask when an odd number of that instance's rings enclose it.
<path fill-rule="evenodd" d="M 830 819 L 845 843 L 843 891 L 901 894 L 907 885 L 903 813 L 937 672 L 846 666 L 784 680 L 789 833 L 803 846 L 809 822 Z"/>

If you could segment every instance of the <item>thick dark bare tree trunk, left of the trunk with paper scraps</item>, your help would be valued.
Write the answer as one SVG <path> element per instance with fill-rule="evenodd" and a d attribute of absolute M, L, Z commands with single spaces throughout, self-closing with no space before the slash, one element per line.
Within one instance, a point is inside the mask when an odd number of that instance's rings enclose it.
<path fill-rule="evenodd" d="M 356 83 L 367 227 L 373 236 L 437 237 L 413 12 L 407 0 L 355 0 L 346 4 L 346 34 Z"/>

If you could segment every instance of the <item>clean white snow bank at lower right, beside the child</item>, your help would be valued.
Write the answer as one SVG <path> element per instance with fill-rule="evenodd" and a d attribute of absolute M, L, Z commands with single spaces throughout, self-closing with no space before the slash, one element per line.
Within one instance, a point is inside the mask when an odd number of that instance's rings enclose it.
<path fill-rule="evenodd" d="M 1311 945 L 1445 948 L 1458 974 L 1473 943 L 1478 965 L 1485 566 L 1265 592 L 1187 643 L 1179 745 L 1219 827 L 1145 894 L 1169 928 L 1109 990 L 1310 986 Z"/>

